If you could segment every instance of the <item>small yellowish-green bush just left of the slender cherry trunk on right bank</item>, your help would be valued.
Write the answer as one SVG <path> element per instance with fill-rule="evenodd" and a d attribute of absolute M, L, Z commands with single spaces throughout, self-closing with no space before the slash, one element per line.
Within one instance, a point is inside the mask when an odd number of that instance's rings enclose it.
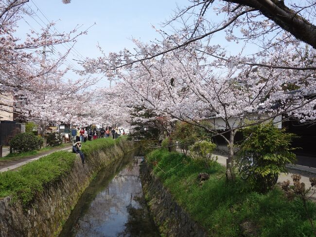
<path fill-rule="evenodd" d="M 208 141 L 195 142 L 190 146 L 190 156 L 196 161 L 202 162 L 205 167 L 209 167 L 217 161 L 217 158 L 212 157 L 215 147 L 215 144 Z"/>

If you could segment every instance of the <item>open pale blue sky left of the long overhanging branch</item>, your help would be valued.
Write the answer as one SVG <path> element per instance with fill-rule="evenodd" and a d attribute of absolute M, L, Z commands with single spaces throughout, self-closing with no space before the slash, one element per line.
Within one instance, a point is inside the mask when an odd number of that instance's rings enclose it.
<path fill-rule="evenodd" d="M 76 63 L 72 58 L 99 56 L 98 43 L 108 53 L 118 52 L 125 47 L 132 48 L 131 37 L 145 42 L 155 39 L 158 35 L 152 25 L 158 26 L 168 19 L 176 4 L 187 3 L 187 0 L 71 0 L 70 4 L 63 4 L 61 0 L 30 0 L 27 4 L 35 14 L 20 20 L 18 36 L 23 38 L 31 27 L 39 31 L 48 20 L 56 22 L 55 27 L 59 32 L 68 32 L 77 25 L 82 25 L 79 30 L 83 31 L 96 23 L 88 30 L 88 35 L 79 37 L 75 50 L 68 57 L 67 63 L 74 65 Z M 66 51 L 66 48 L 58 47 L 55 50 Z M 47 56 L 54 55 L 48 53 Z M 69 76 L 76 75 L 70 73 Z M 106 85 L 106 80 L 100 84 Z"/>

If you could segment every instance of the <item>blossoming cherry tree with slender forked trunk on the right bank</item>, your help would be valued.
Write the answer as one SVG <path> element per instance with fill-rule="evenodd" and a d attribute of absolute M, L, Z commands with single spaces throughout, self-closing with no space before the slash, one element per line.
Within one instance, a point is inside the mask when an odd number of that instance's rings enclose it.
<path fill-rule="evenodd" d="M 289 58 L 298 65 L 306 63 L 299 56 Z M 225 60 L 220 63 L 225 71 L 214 72 L 213 67 L 219 63 L 207 64 L 207 59 L 207 54 L 187 48 L 165 54 L 163 59 L 133 64 L 130 70 L 118 70 L 125 91 L 120 103 L 130 108 L 144 107 L 222 136 L 229 148 L 228 162 L 233 159 L 237 128 L 282 114 L 301 121 L 316 118 L 310 103 L 314 97 L 308 97 L 316 88 L 313 73 L 250 65 L 238 68 Z M 278 63 L 283 58 L 273 60 Z M 202 120 L 210 121 L 211 126 L 200 123 Z M 229 138 L 223 129 L 228 130 Z"/>

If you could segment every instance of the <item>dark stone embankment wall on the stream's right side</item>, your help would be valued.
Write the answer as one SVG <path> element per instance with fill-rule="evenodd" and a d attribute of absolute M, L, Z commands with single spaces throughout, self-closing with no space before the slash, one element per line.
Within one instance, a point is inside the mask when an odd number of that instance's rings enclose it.
<path fill-rule="evenodd" d="M 142 190 L 161 234 L 168 237 L 207 237 L 206 231 L 176 203 L 148 164 L 140 167 Z"/>

